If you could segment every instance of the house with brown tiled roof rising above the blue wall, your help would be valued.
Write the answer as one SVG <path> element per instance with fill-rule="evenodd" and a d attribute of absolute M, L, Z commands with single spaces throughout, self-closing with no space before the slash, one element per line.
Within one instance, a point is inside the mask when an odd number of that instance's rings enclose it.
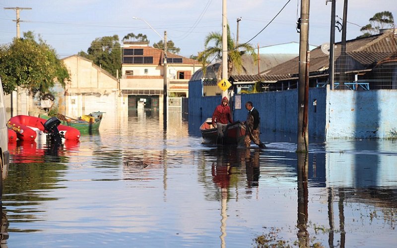
<path fill-rule="evenodd" d="M 397 89 L 397 35 L 393 30 L 365 38 L 346 41 L 334 49 L 335 89 Z M 329 55 L 321 47 L 310 52 L 310 87 L 324 87 L 329 78 Z M 297 88 L 299 57 L 274 66 L 262 73 L 273 90 Z"/>

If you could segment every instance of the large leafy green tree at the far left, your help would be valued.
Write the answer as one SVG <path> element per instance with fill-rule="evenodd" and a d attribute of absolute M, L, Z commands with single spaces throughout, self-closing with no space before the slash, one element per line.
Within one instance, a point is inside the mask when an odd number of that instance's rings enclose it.
<path fill-rule="evenodd" d="M 9 94 L 17 86 L 44 95 L 56 81 L 65 85 L 69 79 L 64 62 L 58 59 L 53 48 L 39 36 L 29 31 L 23 38 L 15 38 L 11 44 L 0 48 L 0 75 L 4 93 Z"/>

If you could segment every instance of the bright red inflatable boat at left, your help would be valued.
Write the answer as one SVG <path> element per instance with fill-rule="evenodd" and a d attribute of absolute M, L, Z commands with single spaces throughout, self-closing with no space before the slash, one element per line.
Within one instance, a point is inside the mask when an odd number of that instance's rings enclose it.
<path fill-rule="evenodd" d="M 45 142 L 47 134 L 51 131 L 45 128 L 47 121 L 50 120 L 33 116 L 18 115 L 11 117 L 7 126 L 15 132 L 16 138 L 19 140 Z M 74 127 L 61 124 L 56 124 L 56 127 L 65 140 L 78 140 L 80 138 L 80 131 Z M 11 141 L 14 140 L 12 131 L 8 132 L 8 137 L 9 139 L 11 137 Z"/>

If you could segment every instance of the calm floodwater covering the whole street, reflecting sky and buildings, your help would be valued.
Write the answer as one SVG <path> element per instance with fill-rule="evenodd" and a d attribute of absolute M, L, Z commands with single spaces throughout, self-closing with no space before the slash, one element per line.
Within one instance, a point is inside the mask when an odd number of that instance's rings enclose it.
<path fill-rule="evenodd" d="M 59 151 L 10 144 L 1 247 L 396 247 L 396 142 L 222 148 L 199 120 L 131 114 Z"/>

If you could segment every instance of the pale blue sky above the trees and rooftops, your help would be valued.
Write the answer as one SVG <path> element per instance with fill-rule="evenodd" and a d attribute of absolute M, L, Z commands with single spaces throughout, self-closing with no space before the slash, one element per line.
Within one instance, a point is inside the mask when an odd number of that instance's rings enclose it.
<path fill-rule="evenodd" d="M 288 0 L 227 0 L 227 19 L 232 36 L 239 22 L 239 42 L 258 34 Z M 375 13 L 391 11 L 397 22 L 397 0 L 349 0 L 347 39 L 361 35 L 359 26 L 369 23 Z M 152 45 L 167 31 L 168 40 L 181 48 L 180 55 L 197 55 L 204 49 L 209 32 L 221 32 L 222 0 L 0 0 L 0 44 L 16 36 L 15 10 L 4 7 L 30 7 L 20 11 L 20 32 L 40 34 L 56 49 L 60 58 L 87 51 L 98 37 L 128 33 L 146 34 Z M 342 17 L 343 0 L 336 0 L 336 15 Z M 300 0 L 290 0 L 284 10 L 251 44 L 260 47 L 299 42 L 296 20 Z M 311 0 L 309 43 L 321 45 L 330 41 L 331 2 Z M 336 42 L 340 33 L 336 30 Z"/>

